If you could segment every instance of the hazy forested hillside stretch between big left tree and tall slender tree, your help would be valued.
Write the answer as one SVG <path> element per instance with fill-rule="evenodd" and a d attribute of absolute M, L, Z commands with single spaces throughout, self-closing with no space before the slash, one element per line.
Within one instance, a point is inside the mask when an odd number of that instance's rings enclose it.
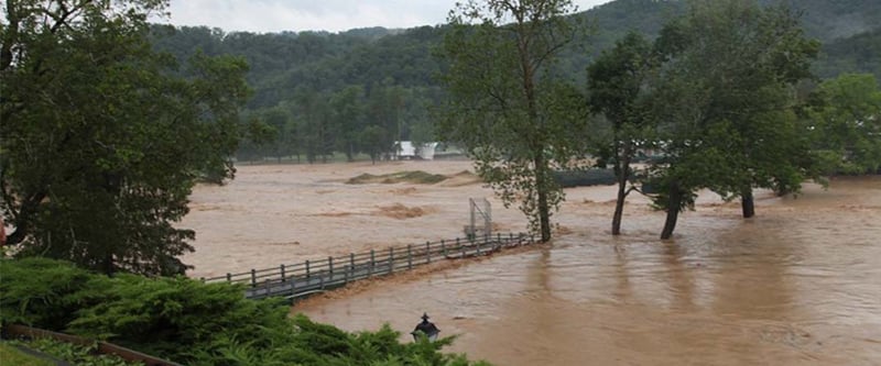
<path fill-rule="evenodd" d="M 199 51 L 248 60 L 254 96 L 249 137 L 237 157 L 325 162 L 334 153 L 377 159 L 395 141 L 432 141 L 429 110 L 442 98 L 432 54 L 439 29 L 393 35 L 384 29 L 331 34 L 224 33 L 153 26 L 153 43 L 185 60 Z"/>

